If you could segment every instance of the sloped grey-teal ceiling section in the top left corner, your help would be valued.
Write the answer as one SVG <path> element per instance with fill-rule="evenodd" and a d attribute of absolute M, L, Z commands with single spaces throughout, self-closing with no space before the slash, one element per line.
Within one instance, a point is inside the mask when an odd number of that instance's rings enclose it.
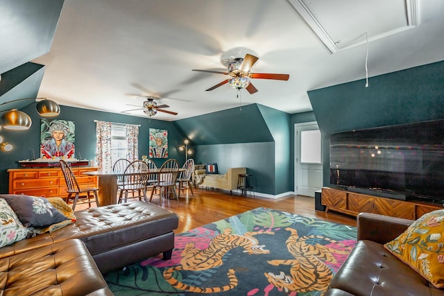
<path fill-rule="evenodd" d="M 30 62 L 49 52 L 64 0 L 0 1 L 0 112 L 33 103 L 44 66 Z"/>

